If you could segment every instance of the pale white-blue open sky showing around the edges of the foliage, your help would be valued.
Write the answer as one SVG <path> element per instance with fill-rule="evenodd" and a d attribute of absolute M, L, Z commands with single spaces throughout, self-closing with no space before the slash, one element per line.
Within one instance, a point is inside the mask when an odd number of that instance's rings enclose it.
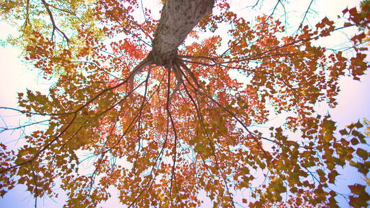
<path fill-rule="evenodd" d="M 147 3 L 147 1 L 144 1 Z M 243 3 L 244 2 L 244 3 Z M 250 1 L 232 1 L 234 8 L 238 10 L 238 14 L 245 16 L 253 15 L 253 11 L 246 8 L 245 2 Z M 307 8 L 310 1 L 295 1 L 295 3 L 288 4 L 291 11 L 299 11 Z M 325 1 L 315 1 L 313 8 L 315 12 L 312 12 L 311 16 L 308 18 L 308 23 L 315 23 L 323 15 L 329 18 L 336 18 L 337 14 L 341 14 L 341 11 L 347 6 L 349 8 L 358 5 L 359 1 L 354 0 L 325 0 Z M 250 3 L 249 3 L 250 4 Z M 145 4 L 146 5 L 146 4 Z M 157 5 L 158 6 L 158 5 Z M 266 5 L 271 8 L 271 5 Z M 292 12 L 289 21 L 299 22 L 301 20 L 300 12 Z M 294 18 L 295 16 L 295 18 Z M 284 16 L 282 16 L 284 18 Z M 14 28 L 10 27 L 3 21 L 0 21 L 0 40 L 4 40 L 8 34 L 14 32 Z M 342 34 L 343 35 L 343 34 Z M 341 34 L 336 38 L 331 38 L 324 40 L 321 44 L 335 44 L 335 42 L 341 42 L 343 36 Z M 21 51 L 16 47 L 7 45 L 5 47 L 0 46 L 0 106 L 1 107 L 16 107 L 16 96 L 17 92 L 25 92 L 26 89 L 38 90 L 45 92 L 49 86 L 53 83 L 53 80 L 47 81 L 41 78 L 37 70 L 32 70 L 32 67 L 27 66 L 22 62 Z M 367 57 L 369 60 L 369 57 Z M 341 92 L 337 96 L 339 105 L 334 109 L 328 109 L 325 105 L 319 106 L 319 112 L 325 114 L 329 112 L 332 119 L 335 120 L 338 129 L 343 128 L 350 122 L 357 121 L 358 119 L 367 117 L 370 118 L 370 75 L 365 75 L 360 77 L 361 81 L 354 81 L 350 77 L 343 77 L 341 79 Z M 17 125 L 17 123 L 22 123 L 24 118 L 16 116 L 13 112 L 5 111 L 0 109 L 0 127 L 5 124 L 8 126 Z M 21 121 L 21 120 L 23 121 Z M 27 121 L 27 120 L 26 120 Z M 279 122 L 278 119 L 275 122 Z M 25 133 L 32 131 L 33 129 L 42 128 L 42 126 L 36 126 L 26 129 Z M 0 142 L 9 146 L 9 148 L 16 148 L 21 146 L 22 140 L 17 140 L 20 136 L 20 132 L 5 132 L 0 134 Z M 354 174 L 354 169 L 347 168 L 346 170 L 338 170 L 341 174 L 337 183 L 338 190 L 343 190 L 343 192 L 348 192 L 348 183 L 364 183 L 360 178 L 359 174 Z M 62 207 L 62 202 L 64 200 L 63 194 L 55 202 L 50 198 L 42 198 L 38 200 L 38 207 Z M 103 207 L 116 204 L 116 200 L 113 198 L 108 203 L 102 205 Z M 343 203 L 343 201 L 342 201 Z M 343 207 L 344 203 L 342 204 Z M 0 207 L 34 207 L 34 198 L 25 192 L 25 187 L 23 185 L 17 185 L 13 190 L 5 194 L 3 198 L 0 198 Z M 207 203 L 203 207 L 209 207 Z"/>

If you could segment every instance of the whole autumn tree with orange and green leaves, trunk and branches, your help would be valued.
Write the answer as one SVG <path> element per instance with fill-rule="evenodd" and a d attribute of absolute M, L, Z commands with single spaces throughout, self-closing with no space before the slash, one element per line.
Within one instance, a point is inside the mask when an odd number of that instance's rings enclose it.
<path fill-rule="evenodd" d="M 200 190 L 214 207 L 235 207 L 235 193 L 245 189 L 249 207 L 284 207 L 282 194 L 291 206 L 338 207 L 336 168 L 369 172 L 362 124 L 338 135 L 314 108 L 335 107 L 338 79 L 358 80 L 367 70 L 364 31 L 342 51 L 314 42 L 348 27 L 369 29 L 367 3 L 343 10 L 341 25 L 302 21 L 291 36 L 271 15 L 249 23 L 227 1 L 167 0 L 159 21 L 133 0 L 5 1 L 0 9 L 22 21 L 22 36 L 9 41 L 45 78 L 58 78 L 48 95 L 28 90 L 18 94 L 19 108 L 1 107 L 48 124 L 16 151 L 1 144 L 1 196 L 21 183 L 37 205 L 56 197 L 60 180 L 66 207 L 96 207 L 110 185 L 130 207 L 196 207 Z M 232 26 L 228 36 L 204 35 L 222 23 Z M 183 44 L 186 36 L 191 44 Z M 253 126 L 271 112 L 291 116 L 264 136 Z M 81 151 L 93 159 L 88 174 L 79 170 Z M 365 186 L 349 188 L 349 205 L 366 207 Z"/>

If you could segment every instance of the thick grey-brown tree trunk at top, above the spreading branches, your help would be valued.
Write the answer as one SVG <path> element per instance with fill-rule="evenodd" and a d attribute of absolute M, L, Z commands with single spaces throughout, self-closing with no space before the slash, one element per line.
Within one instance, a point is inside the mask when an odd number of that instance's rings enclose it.
<path fill-rule="evenodd" d="M 214 0 L 166 0 L 154 34 L 153 64 L 168 66 L 188 33 L 212 11 L 213 5 Z"/>

